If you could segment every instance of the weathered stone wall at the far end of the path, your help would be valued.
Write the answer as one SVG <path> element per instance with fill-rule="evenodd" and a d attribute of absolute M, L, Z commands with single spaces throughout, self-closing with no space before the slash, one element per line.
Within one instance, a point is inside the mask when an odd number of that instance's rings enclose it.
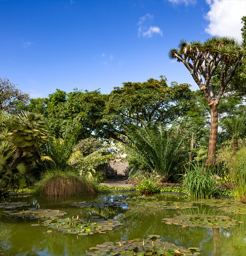
<path fill-rule="evenodd" d="M 116 172 L 118 177 L 127 177 L 129 163 L 125 161 L 110 161 L 103 168 L 103 171 L 107 177 L 115 177 Z"/>

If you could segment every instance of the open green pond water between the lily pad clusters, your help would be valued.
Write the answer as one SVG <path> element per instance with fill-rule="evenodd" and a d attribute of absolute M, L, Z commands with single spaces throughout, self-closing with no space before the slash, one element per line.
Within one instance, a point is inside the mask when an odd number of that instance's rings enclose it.
<path fill-rule="evenodd" d="M 129 200 L 129 197 L 131 200 Z M 31 206 L 21 206 L 18 208 L 0 208 L 0 234 L 5 237 L 3 243 L 5 252 L 8 255 L 19 256 L 80 256 L 86 255 L 89 248 L 101 245 L 105 242 L 129 241 L 135 238 L 147 239 L 149 235 L 159 235 L 162 241 L 174 243 L 178 247 L 198 247 L 200 255 L 203 256 L 245 256 L 246 255 L 246 214 L 235 214 L 240 211 L 239 208 L 232 208 L 232 211 L 221 210 L 224 199 L 216 201 L 217 205 L 202 204 L 186 204 L 186 197 L 179 197 L 166 194 L 155 194 L 152 197 L 139 199 L 139 194 L 107 194 L 107 195 L 91 195 L 80 197 L 12 197 L 7 202 L 27 202 Z M 163 201 L 161 203 L 160 201 Z M 166 201 L 179 202 L 169 203 L 167 208 Z M 77 206 L 71 204 L 75 202 L 87 202 Z M 90 203 L 88 203 L 90 202 Z M 152 202 L 152 205 L 145 205 Z M 181 202 L 185 202 L 184 205 Z M 215 202 L 215 201 L 214 201 Z M 111 203 L 111 204 L 110 204 Z M 159 204 L 159 205 L 158 205 Z M 232 204 L 232 201 L 231 201 Z M 93 233 L 88 235 L 63 233 L 64 230 L 58 230 L 50 226 L 43 226 L 43 222 L 49 218 L 30 219 L 28 217 L 9 216 L 4 211 L 26 211 L 29 208 L 38 209 L 58 209 L 65 211 L 67 214 L 58 216 L 58 219 L 72 219 L 72 223 L 76 222 L 81 214 L 84 221 L 94 222 L 96 219 L 113 219 L 123 225 L 112 225 L 109 230 L 101 230 L 106 233 Z M 108 205 L 108 206 L 107 206 Z M 197 208 L 189 208 L 189 207 Z M 219 206 L 219 207 L 218 207 Z M 232 204 L 233 206 L 233 204 Z M 172 209 L 169 209 L 172 208 Z M 184 208 L 184 209 L 181 209 Z M 243 209 L 241 207 L 243 212 Z M 216 228 L 217 223 L 209 227 L 193 227 L 193 222 L 184 223 L 184 225 L 176 225 L 177 216 L 187 215 L 193 218 L 197 214 L 206 215 L 203 219 L 205 224 L 208 223 L 207 215 L 225 216 L 222 221 L 225 223 L 226 217 L 229 217 L 232 227 Z M 228 218 L 228 219 L 229 219 Z M 168 220 L 171 219 L 170 222 Z M 227 220 L 227 219 L 226 219 Z M 217 220 L 218 222 L 220 219 Z M 62 221 L 61 221 L 62 222 Z M 112 221 L 113 222 L 113 221 Z M 167 222 L 167 223 L 166 223 Z M 200 219 L 198 220 L 200 222 Z M 70 223 L 68 221 L 68 223 Z M 81 222 L 82 223 L 82 222 Z M 31 226 L 32 224 L 42 224 L 39 226 Z M 192 225 L 192 226 L 189 226 Z M 198 225 L 197 223 L 195 225 Z M 56 226 L 54 226 L 56 227 Z M 107 228 L 107 227 L 105 227 Z M 51 230 L 51 233 L 47 233 Z"/>

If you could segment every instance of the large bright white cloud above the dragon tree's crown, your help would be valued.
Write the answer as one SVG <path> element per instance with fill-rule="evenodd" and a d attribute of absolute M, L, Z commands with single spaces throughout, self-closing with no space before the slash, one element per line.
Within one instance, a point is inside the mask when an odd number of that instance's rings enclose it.
<path fill-rule="evenodd" d="M 242 40 L 241 18 L 246 15 L 246 0 L 206 0 L 210 11 L 206 14 L 211 36 L 230 36 Z"/>

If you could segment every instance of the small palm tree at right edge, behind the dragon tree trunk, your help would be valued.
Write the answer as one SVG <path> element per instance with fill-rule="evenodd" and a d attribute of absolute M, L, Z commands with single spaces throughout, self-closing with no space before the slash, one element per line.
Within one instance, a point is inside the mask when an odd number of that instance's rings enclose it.
<path fill-rule="evenodd" d="M 240 135 L 245 131 L 246 129 L 246 116 L 244 113 L 240 115 L 236 115 L 234 118 L 225 118 L 222 121 L 222 124 L 224 128 L 226 128 L 227 132 L 232 135 L 233 139 L 233 150 L 238 150 L 238 139 Z"/>

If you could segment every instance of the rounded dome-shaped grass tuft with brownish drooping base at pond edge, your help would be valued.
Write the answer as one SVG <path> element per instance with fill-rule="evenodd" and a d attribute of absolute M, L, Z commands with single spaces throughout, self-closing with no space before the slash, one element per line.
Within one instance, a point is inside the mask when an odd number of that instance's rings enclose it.
<path fill-rule="evenodd" d="M 36 195 L 68 196 L 95 193 L 93 183 L 75 172 L 52 169 L 41 176 Z"/>

